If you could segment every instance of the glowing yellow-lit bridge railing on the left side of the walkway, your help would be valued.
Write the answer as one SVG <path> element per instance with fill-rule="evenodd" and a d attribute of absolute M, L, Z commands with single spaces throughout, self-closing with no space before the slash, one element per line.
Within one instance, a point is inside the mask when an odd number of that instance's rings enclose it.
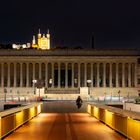
<path fill-rule="evenodd" d="M 32 103 L 0 112 L 0 139 L 41 113 L 42 103 Z"/>

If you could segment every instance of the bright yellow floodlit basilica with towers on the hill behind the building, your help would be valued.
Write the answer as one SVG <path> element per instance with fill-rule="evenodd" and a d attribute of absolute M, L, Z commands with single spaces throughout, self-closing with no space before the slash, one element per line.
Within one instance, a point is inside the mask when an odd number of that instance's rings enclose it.
<path fill-rule="evenodd" d="M 35 36 L 33 36 L 32 40 L 32 48 L 42 49 L 42 50 L 49 50 L 50 49 L 50 33 L 49 30 L 47 34 L 41 34 L 40 29 L 38 33 L 38 38 L 36 41 Z"/>

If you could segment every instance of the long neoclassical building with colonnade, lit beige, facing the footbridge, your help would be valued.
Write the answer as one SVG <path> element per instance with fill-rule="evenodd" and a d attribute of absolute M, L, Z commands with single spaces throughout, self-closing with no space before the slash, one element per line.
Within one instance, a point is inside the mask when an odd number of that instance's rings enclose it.
<path fill-rule="evenodd" d="M 98 96 L 137 96 L 140 57 L 137 50 L 0 50 L 0 94 L 84 99 Z M 37 85 L 35 85 L 37 86 Z M 89 87 L 89 90 L 88 90 Z M 36 94 L 38 89 L 36 88 Z"/>

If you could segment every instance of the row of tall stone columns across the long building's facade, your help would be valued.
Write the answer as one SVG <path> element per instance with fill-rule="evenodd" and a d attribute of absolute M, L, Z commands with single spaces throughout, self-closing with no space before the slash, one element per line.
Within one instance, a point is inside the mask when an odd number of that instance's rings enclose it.
<path fill-rule="evenodd" d="M 8 64 L 8 82 L 7 82 L 7 86 L 10 86 L 10 64 Z M 68 64 L 69 63 L 65 63 L 65 87 L 68 87 Z M 71 75 L 71 87 L 74 87 L 74 83 L 75 83 L 75 73 L 74 73 L 74 64 L 75 63 L 71 63 L 71 71 L 72 71 L 72 75 Z M 87 87 L 87 64 L 84 64 L 84 86 Z M 91 75 L 90 75 L 90 80 L 91 82 L 91 87 L 93 87 L 93 64 L 91 63 Z M 97 64 L 97 87 L 99 87 L 99 74 L 100 74 L 100 69 L 99 69 L 99 65 L 101 63 L 96 63 Z M 108 63 L 110 64 L 109 67 L 109 87 L 112 87 L 112 63 Z M 116 87 L 119 86 L 119 70 L 118 70 L 118 64 L 116 63 Z M 51 68 L 51 78 L 52 78 L 52 87 L 54 87 L 54 63 L 51 63 L 52 68 Z M 1 64 L 1 86 L 4 86 L 4 63 Z M 80 66 L 81 63 L 78 63 L 78 77 L 77 77 L 77 85 L 78 87 L 80 87 L 80 76 L 81 76 L 81 71 L 80 71 Z M 41 63 L 39 63 L 39 79 L 41 79 L 42 77 L 42 70 L 41 70 Z M 37 71 L 35 70 L 35 63 L 33 63 L 33 73 L 32 73 L 32 77 L 33 79 L 35 79 L 35 74 L 37 73 Z M 128 87 L 131 87 L 131 63 L 128 63 Z M 58 87 L 61 87 L 61 63 L 58 63 Z M 45 64 L 45 81 L 48 81 L 48 64 Z M 14 63 L 14 87 L 17 86 L 17 70 L 16 70 L 16 63 Z M 45 82 L 45 86 L 48 87 L 48 82 Z M 134 86 L 137 86 L 137 73 L 136 73 L 136 64 L 134 65 Z M 23 87 L 23 65 L 22 63 L 20 63 L 20 87 Z M 29 63 L 26 63 L 26 87 L 29 87 Z M 106 63 L 103 63 L 103 87 L 106 87 Z M 122 87 L 125 87 L 125 63 L 122 63 Z"/>

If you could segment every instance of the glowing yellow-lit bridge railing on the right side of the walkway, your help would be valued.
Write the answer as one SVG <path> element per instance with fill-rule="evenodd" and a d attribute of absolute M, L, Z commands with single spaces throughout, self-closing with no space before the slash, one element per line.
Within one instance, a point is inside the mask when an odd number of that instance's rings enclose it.
<path fill-rule="evenodd" d="M 140 113 L 99 104 L 89 104 L 87 112 L 127 138 L 140 140 Z"/>

